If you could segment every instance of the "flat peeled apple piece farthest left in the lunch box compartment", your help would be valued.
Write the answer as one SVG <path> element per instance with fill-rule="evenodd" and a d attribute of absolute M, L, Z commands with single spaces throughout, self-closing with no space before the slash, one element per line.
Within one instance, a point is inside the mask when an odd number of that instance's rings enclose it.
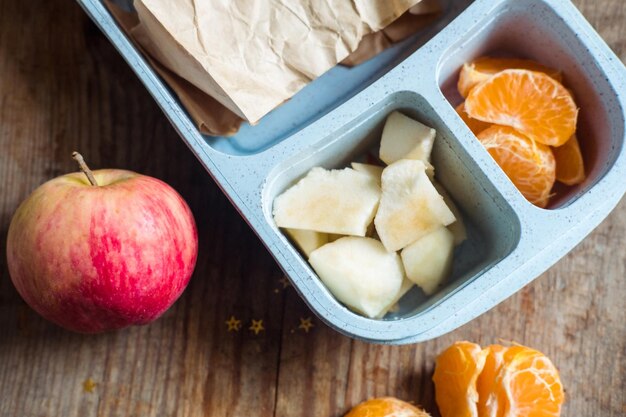
<path fill-rule="evenodd" d="M 313 168 L 274 200 L 278 227 L 365 236 L 372 222 L 380 187 L 371 175 L 346 168 Z"/>

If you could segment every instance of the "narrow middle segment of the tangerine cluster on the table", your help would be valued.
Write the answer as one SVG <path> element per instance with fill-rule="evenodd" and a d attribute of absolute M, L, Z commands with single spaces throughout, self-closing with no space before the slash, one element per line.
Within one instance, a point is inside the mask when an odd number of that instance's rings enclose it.
<path fill-rule="evenodd" d="M 496 395 L 496 377 L 504 365 L 504 353 L 507 348 L 502 345 L 491 345 L 484 349 L 487 352 L 485 367 L 476 382 L 478 390 L 478 415 L 480 417 L 502 417 L 504 403 L 502 396 Z"/>

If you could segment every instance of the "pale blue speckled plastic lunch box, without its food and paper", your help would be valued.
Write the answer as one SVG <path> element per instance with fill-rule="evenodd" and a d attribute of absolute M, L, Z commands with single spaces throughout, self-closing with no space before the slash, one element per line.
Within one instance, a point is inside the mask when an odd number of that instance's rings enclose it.
<path fill-rule="evenodd" d="M 568 0 L 450 0 L 441 22 L 356 70 L 336 68 L 234 138 L 200 135 L 100 3 L 78 0 L 137 73 L 182 139 L 261 237 L 298 293 L 331 327 L 378 343 L 440 336 L 532 281 L 593 230 L 626 191 L 626 69 Z M 446 24 L 452 20 L 447 26 Z M 454 111 L 458 69 L 508 54 L 559 68 L 581 108 L 588 178 L 548 209 L 528 203 Z M 384 74 L 384 75 L 383 75 Z M 381 76 L 382 75 L 382 76 Z M 352 81 L 350 81 L 352 80 Z M 275 226 L 272 201 L 317 165 L 340 167 L 379 140 L 393 110 L 433 126 L 437 179 L 461 207 L 469 239 L 433 296 L 411 291 L 384 320 L 338 303 Z M 202 256 L 202 254 L 200 254 Z"/>

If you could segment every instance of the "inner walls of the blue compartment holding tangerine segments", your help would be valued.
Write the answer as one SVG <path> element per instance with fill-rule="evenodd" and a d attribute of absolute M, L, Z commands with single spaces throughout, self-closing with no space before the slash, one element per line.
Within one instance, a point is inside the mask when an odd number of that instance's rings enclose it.
<path fill-rule="evenodd" d="M 593 187 L 611 168 L 623 146 L 624 119 L 617 93 L 580 35 L 550 5 L 539 0 L 508 0 L 468 27 L 439 64 L 439 84 L 450 104 L 463 100 L 456 84 L 463 63 L 481 56 L 532 59 L 561 70 L 581 109 L 577 137 L 585 159 L 586 180 L 574 187 L 557 184 L 548 208 L 568 205 Z"/>

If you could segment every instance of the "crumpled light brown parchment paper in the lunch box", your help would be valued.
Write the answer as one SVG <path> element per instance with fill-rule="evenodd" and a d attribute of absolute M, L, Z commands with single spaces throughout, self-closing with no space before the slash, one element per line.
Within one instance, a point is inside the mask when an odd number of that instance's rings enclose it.
<path fill-rule="evenodd" d="M 251 123 L 419 0 L 135 0 L 159 62 Z"/>

